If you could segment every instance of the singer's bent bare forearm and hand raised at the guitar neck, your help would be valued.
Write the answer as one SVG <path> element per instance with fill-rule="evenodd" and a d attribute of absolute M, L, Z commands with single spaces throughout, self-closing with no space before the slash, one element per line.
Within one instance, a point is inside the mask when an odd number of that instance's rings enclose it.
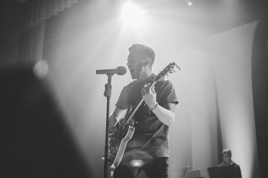
<path fill-rule="evenodd" d="M 141 95 L 144 98 L 145 103 L 149 108 L 155 108 L 156 106 L 156 93 L 155 87 L 150 88 L 150 84 L 144 85 L 141 90 Z M 154 110 L 152 110 L 156 117 L 165 125 L 171 126 L 175 120 L 175 104 L 167 103 L 163 107 L 157 106 Z"/>

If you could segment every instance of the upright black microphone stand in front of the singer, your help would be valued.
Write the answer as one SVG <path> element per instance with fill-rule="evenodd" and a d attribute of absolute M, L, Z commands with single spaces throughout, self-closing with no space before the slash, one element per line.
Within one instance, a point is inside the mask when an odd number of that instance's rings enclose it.
<path fill-rule="evenodd" d="M 108 175 L 108 129 L 109 129 L 109 112 L 110 112 L 110 98 L 112 93 L 112 76 L 113 74 L 106 74 L 108 76 L 108 83 L 105 84 L 104 96 L 107 97 L 107 111 L 106 111 L 106 131 L 105 131 L 105 151 L 104 151 L 104 174 L 103 177 L 107 178 Z"/>

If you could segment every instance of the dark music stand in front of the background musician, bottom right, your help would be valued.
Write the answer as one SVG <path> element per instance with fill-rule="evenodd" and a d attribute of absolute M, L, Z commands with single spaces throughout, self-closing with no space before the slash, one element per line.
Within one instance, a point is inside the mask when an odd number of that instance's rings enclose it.
<path fill-rule="evenodd" d="M 210 178 L 237 178 L 233 166 L 210 167 L 208 174 Z"/>

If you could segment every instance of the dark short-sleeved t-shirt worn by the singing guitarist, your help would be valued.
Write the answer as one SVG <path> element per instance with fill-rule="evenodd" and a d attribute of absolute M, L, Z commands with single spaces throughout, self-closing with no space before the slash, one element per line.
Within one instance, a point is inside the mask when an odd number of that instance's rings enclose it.
<path fill-rule="evenodd" d="M 146 83 L 137 84 L 136 80 L 124 86 L 116 107 L 128 109 L 141 97 L 141 89 Z M 174 86 L 164 79 L 155 84 L 156 101 L 160 106 L 167 103 L 178 103 Z M 134 115 L 135 131 L 128 141 L 125 154 L 134 158 L 169 157 L 169 127 L 163 124 L 147 105 L 141 104 Z"/>

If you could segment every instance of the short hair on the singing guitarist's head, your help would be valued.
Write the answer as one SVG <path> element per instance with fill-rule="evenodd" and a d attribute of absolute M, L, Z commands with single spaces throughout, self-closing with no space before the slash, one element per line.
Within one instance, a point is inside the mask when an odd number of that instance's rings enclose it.
<path fill-rule="evenodd" d="M 135 43 L 128 48 L 128 51 L 129 52 L 137 51 L 141 55 L 144 55 L 145 57 L 150 58 L 151 59 L 150 60 L 151 66 L 155 62 L 155 51 L 151 46 L 146 46 L 146 45 Z"/>

